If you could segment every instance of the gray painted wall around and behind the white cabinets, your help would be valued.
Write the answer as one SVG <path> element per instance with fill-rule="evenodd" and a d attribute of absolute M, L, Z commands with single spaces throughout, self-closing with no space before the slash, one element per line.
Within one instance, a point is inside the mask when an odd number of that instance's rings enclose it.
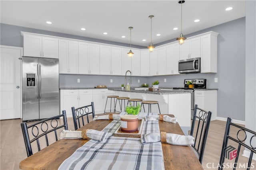
<path fill-rule="evenodd" d="M 60 37 L 68 37 L 74 39 L 82 39 L 86 41 L 95 41 L 100 43 L 108 43 L 114 45 L 123 45 L 129 47 L 128 44 L 120 44 L 114 42 L 106 42 L 103 40 L 89 39 L 86 37 L 78 37 L 62 33 L 54 33 L 50 31 L 30 29 L 25 27 L 17 27 L 14 25 L 6 25 L 1 23 L 1 45 L 23 46 L 23 37 L 20 31 L 41 33 Z M 186 37 L 205 33 L 207 31 L 215 31 L 218 35 L 218 57 L 217 71 L 218 73 L 208 74 L 184 74 L 169 76 L 153 76 L 153 77 L 133 77 L 132 86 L 140 86 L 142 83 L 151 84 L 154 80 L 160 81 L 162 87 L 181 87 L 186 78 L 206 78 L 207 88 L 218 88 L 217 116 L 233 117 L 234 119 L 245 120 L 245 18 L 223 23 L 208 29 L 198 31 Z M 186 34 L 186 33 L 184 33 Z M 165 43 L 176 41 L 172 39 Z M 138 46 L 134 46 L 141 48 Z M 145 47 L 144 47 L 145 48 Z M 80 83 L 77 83 L 80 78 Z M 164 82 L 166 78 L 166 82 Z M 218 78 L 218 83 L 214 83 L 214 78 Z M 110 79 L 113 83 L 110 83 Z M 140 79 L 140 83 L 138 83 Z M 119 87 L 124 82 L 124 76 L 92 76 L 92 75 L 60 75 L 60 87 L 93 87 L 96 85 L 107 85 L 108 87 Z M 235 82 L 235 83 L 234 83 Z"/>

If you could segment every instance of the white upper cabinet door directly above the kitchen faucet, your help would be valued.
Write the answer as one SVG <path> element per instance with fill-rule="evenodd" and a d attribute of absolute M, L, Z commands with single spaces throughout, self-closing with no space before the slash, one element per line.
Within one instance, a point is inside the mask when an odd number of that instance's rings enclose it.
<path fill-rule="evenodd" d="M 127 54 L 129 51 L 130 49 L 122 48 L 122 75 L 125 75 L 127 70 L 132 70 L 132 57 L 128 57 Z M 134 56 L 135 55 L 136 54 L 134 53 Z"/>

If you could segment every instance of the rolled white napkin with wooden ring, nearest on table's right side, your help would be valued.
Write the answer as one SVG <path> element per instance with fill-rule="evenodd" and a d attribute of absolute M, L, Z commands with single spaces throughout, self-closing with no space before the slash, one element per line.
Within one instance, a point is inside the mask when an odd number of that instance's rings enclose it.
<path fill-rule="evenodd" d="M 162 135 L 162 136 L 161 136 Z M 178 135 L 174 133 L 148 133 L 141 135 L 140 141 L 142 144 L 155 143 L 155 142 L 166 142 L 171 145 L 189 146 L 194 145 L 194 137 L 190 135 Z"/>

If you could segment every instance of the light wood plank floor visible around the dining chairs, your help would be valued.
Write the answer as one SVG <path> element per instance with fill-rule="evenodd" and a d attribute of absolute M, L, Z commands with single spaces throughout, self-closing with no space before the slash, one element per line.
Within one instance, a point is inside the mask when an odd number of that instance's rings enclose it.
<path fill-rule="evenodd" d="M 27 157 L 20 123 L 21 119 L 0 121 L 0 170 L 18 170 Z M 218 165 L 225 126 L 225 121 L 211 121 L 202 164 L 206 170 Z M 74 130 L 72 118 L 68 118 L 68 129 Z"/>

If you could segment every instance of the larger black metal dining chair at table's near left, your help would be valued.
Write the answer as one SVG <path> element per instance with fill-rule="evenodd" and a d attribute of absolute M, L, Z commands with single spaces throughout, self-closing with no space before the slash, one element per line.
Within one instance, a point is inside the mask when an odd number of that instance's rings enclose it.
<path fill-rule="evenodd" d="M 61 121 L 61 118 L 63 119 L 63 122 Z M 59 134 L 60 131 L 57 130 L 61 128 L 68 130 L 68 123 L 65 111 L 62 112 L 62 115 L 57 115 L 54 117 L 43 119 L 31 125 L 28 125 L 27 122 L 21 123 L 21 130 L 24 138 L 27 156 L 29 157 L 33 154 L 32 148 L 34 149 L 34 147 L 32 147 L 31 144 L 35 141 L 37 144 L 38 151 L 40 151 L 42 147 L 45 147 L 45 145 L 46 147 L 48 147 L 49 143 L 53 143 L 52 133 L 54 133 L 55 141 L 58 141 L 57 133 Z M 43 137 L 45 137 L 45 140 L 43 139 Z"/>

